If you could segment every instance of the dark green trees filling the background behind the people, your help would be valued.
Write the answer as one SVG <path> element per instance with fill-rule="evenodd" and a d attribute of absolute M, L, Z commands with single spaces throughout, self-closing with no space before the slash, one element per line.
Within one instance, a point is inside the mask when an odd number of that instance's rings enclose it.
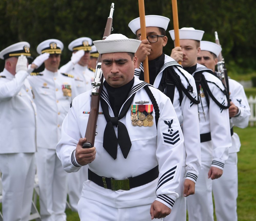
<path fill-rule="evenodd" d="M 1 0 L 0 50 L 19 41 L 28 41 L 35 58 L 37 45 L 50 38 L 61 40 L 65 47 L 61 65 L 71 57 L 68 44 L 76 38 L 87 36 L 102 39 L 106 20 L 113 0 Z M 135 38 L 128 23 L 139 16 L 138 1 L 118 0 L 113 15 L 113 32 Z M 202 40 L 215 40 L 218 32 L 228 70 L 236 73 L 256 69 L 256 1 L 255 0 L 177 0 L 179 27 L 204 30 Z M 164 48 L 170 54 L 174 44 L 168 33 L 173 29 L 170 0 L 145 0 L 146 15 L 170 18 L 167 29 L 169 39 Z M 0 70 L 4 62 L 0 62 Z"/>

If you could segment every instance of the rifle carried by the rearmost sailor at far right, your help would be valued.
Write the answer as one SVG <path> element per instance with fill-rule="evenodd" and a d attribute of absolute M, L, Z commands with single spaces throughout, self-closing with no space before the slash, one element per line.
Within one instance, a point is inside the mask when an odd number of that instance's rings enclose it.
<path fill-rule="evenodd" d="M 215 34 L 215 43 L 221 46 L 217 31 L 215 31 L 214 34 Z M 217 75 L 219 79 L 222 81 L 222 83 L 224 84 L 224 86 L 226 87 L 227 93 L 229 95 L 228 73 L 227 73 L 227 69 L 225 67 L 225 61 L 224 61 L 224 58 L 222 57 L 221 52 L 218 56 Z"/>

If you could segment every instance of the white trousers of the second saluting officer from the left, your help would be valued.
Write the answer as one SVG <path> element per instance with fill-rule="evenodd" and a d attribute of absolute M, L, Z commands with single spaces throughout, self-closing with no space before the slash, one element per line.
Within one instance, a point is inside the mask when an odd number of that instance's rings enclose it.
<path fill-rule="evenodd" d="M 66 220 L 67 172 L 56 150 L 37 148 L 39 202 L 42 221 Z"/>

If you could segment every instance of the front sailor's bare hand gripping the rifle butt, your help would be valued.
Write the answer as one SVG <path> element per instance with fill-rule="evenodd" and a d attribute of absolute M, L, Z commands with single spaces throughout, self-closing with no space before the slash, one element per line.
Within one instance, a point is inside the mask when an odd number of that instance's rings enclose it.
<path fill-rule="evenodd" d="M 86 138 L 80 138 L 77 144 L 76 148 L 76 159 L 77 162 L 84 166 L 87 165 L 88 163 L 91 163 L 95 159 L 96 155 L 96 148 L 83 148 L 83 143 L 86 141 Z"/>

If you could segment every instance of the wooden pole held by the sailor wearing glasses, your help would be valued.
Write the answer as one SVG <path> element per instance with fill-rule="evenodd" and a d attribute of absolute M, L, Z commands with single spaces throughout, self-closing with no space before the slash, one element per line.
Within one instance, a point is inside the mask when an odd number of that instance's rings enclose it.
<path fill-rule="evenodd" d="M 140 24 L 141 24 L 141 40 L 147 39 L 146 34 L 146 22 L 145 22 L 145 8 L 144 0 L 138 0 L 139 3 L 139 14 L 140 14 Z M 149 83 L 149 71 L 148 71 L 148 57 L 143 61 L 144 68 L 144 81 Z"/>

